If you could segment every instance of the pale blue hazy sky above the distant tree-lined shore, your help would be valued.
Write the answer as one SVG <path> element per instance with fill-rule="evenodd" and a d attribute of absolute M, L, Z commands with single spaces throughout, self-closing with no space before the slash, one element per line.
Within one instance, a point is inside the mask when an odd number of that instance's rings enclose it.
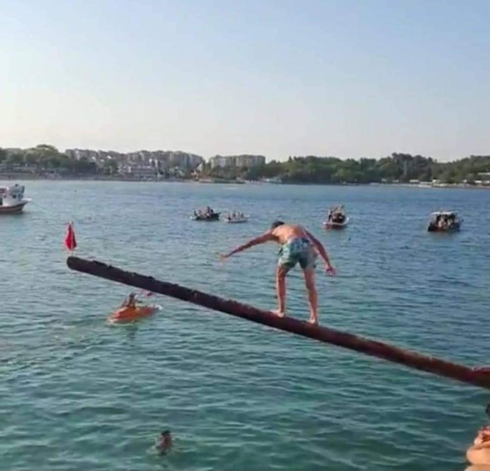
<path fill-rule="evenodd" d="M 489 0 L 0 0 L 0 147 L 490 153 Z"/>

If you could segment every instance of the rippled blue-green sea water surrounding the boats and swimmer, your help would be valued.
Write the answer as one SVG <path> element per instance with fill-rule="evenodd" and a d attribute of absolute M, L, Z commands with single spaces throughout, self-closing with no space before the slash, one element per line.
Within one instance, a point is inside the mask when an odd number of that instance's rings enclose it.
<path fill-rule="evenodd" d="M 318 274 L 320 323 L 483 365 L 490 191 L 26 182 L 26 196 L 25 214 L 0 218 L 1 469 L 464 469 L 484 390 L 163 297 L 110 327 L 129 288 L 70 271 L 62 240 L 73 219 L 80 257 L 271 308 L 277 248 L 217 253 L 301 222 L 338 268 Z M 338 202 L 351 224 L 327 233 Z M 206 204 L 252 217 L 191 221 Z M 460 233 L 426 232 L 441 208 L 465 217 Z M 297 270 L 288 309 L 308 316 Z"/>

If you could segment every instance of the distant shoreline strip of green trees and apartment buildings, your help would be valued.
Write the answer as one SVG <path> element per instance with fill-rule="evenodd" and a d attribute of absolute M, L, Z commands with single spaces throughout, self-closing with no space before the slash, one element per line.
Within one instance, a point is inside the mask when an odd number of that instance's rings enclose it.
<path fill-rule="evenodd" d="M 85 178 L 201 183 L 408 184 L 421 187 L 488 187 L 490 156 L 470 155 L 453 162 L 392 153 L 381 159 L 289 156 L 278 162 L 263 155 L 215 155 L 207 161 L 184 151 L 117 152 L 66 149 L 39 144 L 0 148 L 0 178 Z"/>

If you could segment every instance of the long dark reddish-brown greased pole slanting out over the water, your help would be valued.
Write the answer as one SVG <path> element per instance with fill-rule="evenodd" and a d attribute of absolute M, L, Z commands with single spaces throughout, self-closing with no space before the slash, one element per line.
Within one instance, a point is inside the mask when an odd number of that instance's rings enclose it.
<path fill-rule="evenodd" d="M 485 368 L 468 368 L 467 366 L 440 360 L 432 356 L 402 350 L 398 347 L 393 347 L 392 345 L 376 340 L 370 340 L 358 335 L 327 327 L 314 326 L 294 319 L 293 317 L 278 317 L 271 312 L 263 311 L 256 307 L 237 303 L 232 300 L 225 300 L 218 296 L 206 294 L 195 289 L 189 289 L 178 284 L 161 282 L 155 280 L 153 277 L 124 271 L 96 260 L 69 257 L 67 264 L 72 270 L 88 273 L 118 283 L 136 286 L 137 288 L 142 288 L 147 291 L 164 294 L 182 301 L 208 307 L 209 309 L 242 317 L 243 319 L 248 319 L 249 321 L 257 322 L 258 324 L 263 324 L 275 329 L 286 330 L 297 335 L 302 335 L 303 337 L 319 340 L 320 342 L 330 343 L 356 352 L 383 358 L 384 360 L 399 363 L 408 366 L 409 368 L 415 368 L 435 375 L 456 379 L 474 386 L 490 389 L 490 372 Z"/>

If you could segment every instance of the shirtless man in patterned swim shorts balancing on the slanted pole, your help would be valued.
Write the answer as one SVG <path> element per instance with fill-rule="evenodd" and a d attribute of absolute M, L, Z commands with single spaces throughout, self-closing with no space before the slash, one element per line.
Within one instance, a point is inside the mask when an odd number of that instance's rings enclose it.
<path fill-rule="evenodd" d="M 306 289 L 308 290 L 308 299 L 310 302 L 309 322 L 318 324 L 318 297 L 315 288 L 315 261 L 318 254 L 325 261 L 325 273 L 334 276 L 335 268 L 330 263 L 327 252 L 321 242 L 306 229 L 299 225 L 275 221 L 271 224 L 270 230 L 265 234 L 249 240 L 244 245 L 237 247 L 226 255 L 221 255 L 221 259 L 226 259 L 254 245 L 269 241 L 274 241 L 281 245 L 276 270 L 276 291 L 279 307 L 272 312 L 280 317 L 285 316 L 286 275 L 299 262 L 299 265 L 303 269 Z"/>

